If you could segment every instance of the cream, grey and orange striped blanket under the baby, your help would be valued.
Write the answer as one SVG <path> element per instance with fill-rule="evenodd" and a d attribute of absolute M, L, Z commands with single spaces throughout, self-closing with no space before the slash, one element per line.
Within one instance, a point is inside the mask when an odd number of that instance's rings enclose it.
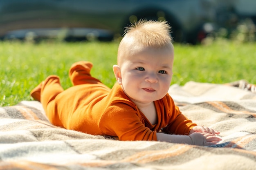
<path fill-rule="evenodd" d="M 36 101 L 0 108 L 0 170 L 256 170 L 256 93 L 188 82 L 169 93 L 199 125 L 220 131 L 218 145 L 118 141 L 49 123 Z"/>

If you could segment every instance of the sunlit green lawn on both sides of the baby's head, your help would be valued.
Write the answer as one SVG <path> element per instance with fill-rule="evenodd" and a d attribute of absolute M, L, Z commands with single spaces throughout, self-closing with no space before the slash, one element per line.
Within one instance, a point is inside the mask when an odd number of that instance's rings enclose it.
<path fill-rule="evenodd" d="M 189 81 L 227 83 L 239 79 L 256 84 L 256 43 L 220 41 L 208 46 L 175 45 L 172 84 Z M 0 106 L 32 100 L 30 91 L 48 75 L 58 75 L 64 89 L 71 86 L 70 66 L 80 60 L 94 64 L 92 75 L 110 88 L 115 83 L 117 42 L 0 42 Z"/>

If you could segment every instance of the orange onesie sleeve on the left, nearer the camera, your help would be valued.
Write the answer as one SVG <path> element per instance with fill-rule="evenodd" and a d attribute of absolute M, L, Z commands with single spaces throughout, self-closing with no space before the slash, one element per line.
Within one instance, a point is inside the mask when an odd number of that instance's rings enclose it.
<path fill-rule="evenodd" d="M 117 136 L 122 141 L 156 141 L 156 131 L 145 126 L 138 111 L 121 102 L 108 106 L 99 121 L 99 128 L 104 134 Z"/>

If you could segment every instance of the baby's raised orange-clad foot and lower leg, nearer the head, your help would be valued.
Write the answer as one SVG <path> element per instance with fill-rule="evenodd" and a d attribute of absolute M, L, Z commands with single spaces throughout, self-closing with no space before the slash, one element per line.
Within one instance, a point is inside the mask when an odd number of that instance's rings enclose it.
<path fill-rule="evenodd" d="M 98 84 L 101 83 L 99 79 L 91 76 L 90 71 L 92 69 L 91 62 L 80 61 L 72 64 L 69 72 L 70 80 L 72 84 Z"/>

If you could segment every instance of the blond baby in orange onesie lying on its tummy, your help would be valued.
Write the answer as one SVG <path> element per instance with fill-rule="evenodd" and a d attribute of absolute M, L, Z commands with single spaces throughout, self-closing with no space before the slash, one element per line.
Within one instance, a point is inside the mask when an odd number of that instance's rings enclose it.
<path fill-rule="evenodd" d="M 166 22 L 140 20 L 121 40 L 112 89 L 90 75 L 92 63 L 76 62 L 74 86 L 63 90 L 51 75 L 31 91 L 52 124 L 119 140 L 154 140 L 200 146 L 217 144 L 220 134 L 184 116 L 167 93 L 174 49 Z"/>

